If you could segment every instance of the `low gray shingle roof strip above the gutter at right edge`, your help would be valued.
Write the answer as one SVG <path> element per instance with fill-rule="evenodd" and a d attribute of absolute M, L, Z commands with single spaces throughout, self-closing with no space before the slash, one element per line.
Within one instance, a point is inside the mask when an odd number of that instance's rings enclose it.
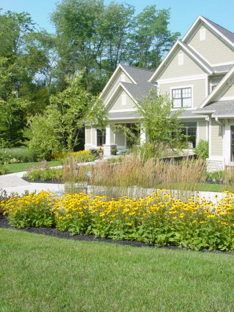
<path fill-rule="evenodd" d="M 213 113 L 213 117 L 219 116 L 233 116 L 234 115 L 234 100 L 225 100 L 225 101 L 216 101 L 212 102 L 209 105 L 197 109 L 194 113 Z"/>

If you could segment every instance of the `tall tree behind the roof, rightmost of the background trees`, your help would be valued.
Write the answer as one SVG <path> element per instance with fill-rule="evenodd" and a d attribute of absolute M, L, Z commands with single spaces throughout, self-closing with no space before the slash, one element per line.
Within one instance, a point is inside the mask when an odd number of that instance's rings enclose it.
<path fill-rule="evenodd" d="M 129 61 L 135 66 L 156 69 L 180 36 L 168 29 L 170 9 L 149 5 L 137 15 L 129 42 Z"/>

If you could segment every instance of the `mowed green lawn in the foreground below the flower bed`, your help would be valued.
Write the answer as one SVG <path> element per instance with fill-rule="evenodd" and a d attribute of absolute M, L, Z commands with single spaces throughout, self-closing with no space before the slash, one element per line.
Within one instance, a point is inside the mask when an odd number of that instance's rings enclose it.
<path fill-rule="evenodd" d="M 231 312 L 234 256 L 0 229 L 1 312 Z"/>

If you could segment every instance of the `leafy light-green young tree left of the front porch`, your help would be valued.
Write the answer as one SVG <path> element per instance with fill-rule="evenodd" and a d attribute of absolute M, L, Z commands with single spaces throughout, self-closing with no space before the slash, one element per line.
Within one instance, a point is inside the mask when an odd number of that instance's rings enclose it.
<path fill-rule="evenodd" d="M 38 151 L 39 156 L 48 158 L 55 152 L 72 152 L 78 146 L 84 125 L 105 126 L 103 102 L 85 90 L 82 75 L 81 72 L 68 78 L 68 87 L 51 95 L 44 114 L 29 119 L 29 129 L 25 131 L 27 145 Z"/>

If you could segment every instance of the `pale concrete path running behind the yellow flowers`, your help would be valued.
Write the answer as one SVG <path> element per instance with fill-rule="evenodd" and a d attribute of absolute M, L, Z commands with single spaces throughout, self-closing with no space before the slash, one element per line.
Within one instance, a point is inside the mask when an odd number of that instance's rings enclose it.
<path fill-rule="evenodd" d="M 63 184 L 52 184 L 52 183 L 29 183 L 25 180 L 23 180 L 21 177 L 24 176 L 26 172 L 17 172 L 13 174 L 7 174 L 4 176 L 0 176 L 0 188 L 6 190 L 8 194 L 14 192 L 18 194 L 23 194 L 25 191 L 34 192 L 37 193 L 44 191 L 51 191 L 53 193 L 56 193 L 58 195 L 64 194 L 64 185 Z M 105 191 L 104 187 L 103 191 Z M 100 187 L 97 188 L 100 190 Z M 93 193 L 94 189 L 92 189 L 91 186 L 88 186 L 88 194 Z M 150 194 L 153 191 L 153 189 L 145 190 L 142 189 L 142 195 L 147 193 Z M 218 195 L 218 198 L 215 198 L 215 196 Z M 205 197 L 207 199 L 212 200 L 214 203 L 217 202 L 217 200 L 222 199 L 225 194 L 222 193 L 215 193 L 215 192 L 199 192 L 200 197 Z"/>

